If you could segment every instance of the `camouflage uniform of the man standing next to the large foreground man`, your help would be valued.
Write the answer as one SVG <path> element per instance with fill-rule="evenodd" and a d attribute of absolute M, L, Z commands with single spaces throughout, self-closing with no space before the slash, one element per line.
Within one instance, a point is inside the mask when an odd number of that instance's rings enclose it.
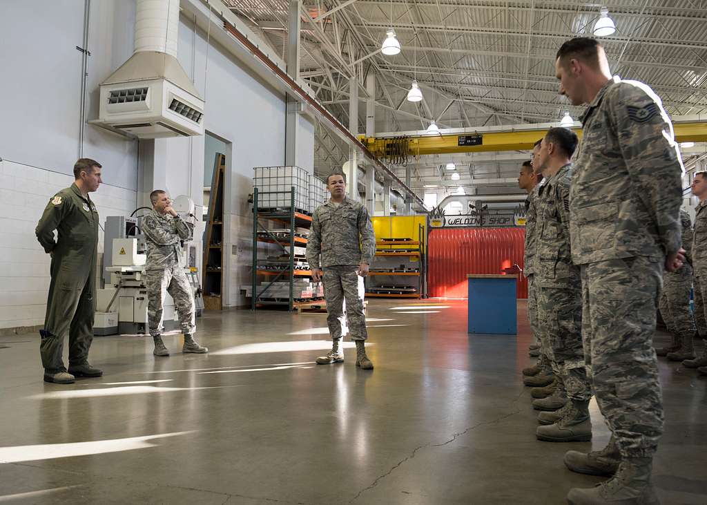
<path fill-rule="evenodd" d="M 572 166 L 545 178 L 537 199 L 535 283 L 541 339 L 552 368 L 572 400 L 587 402 L 592 393 L 582 345 L 582 291 L 579 267 L 570 251 L 569 193 Z"/>

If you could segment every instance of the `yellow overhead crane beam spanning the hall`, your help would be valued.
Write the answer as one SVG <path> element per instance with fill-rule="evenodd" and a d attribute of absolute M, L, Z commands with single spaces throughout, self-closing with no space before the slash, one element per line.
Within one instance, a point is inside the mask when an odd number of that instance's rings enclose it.
<path fill-rule="evenodd" d="M 582 129 L 574 132 L 582 137 Z M 674 124 L 675 138 L 679 142 L 707 142 L 707 122 L 684 122 Z M 421 134 L 409 139 L 409 155 L 479 153 L 483 151 L 527 151 L 547 132 L 545 129 L 527 129 L 515 132 L 480 132 L 454 135 Z M 376 157 L 385 156 L 390 137 L 359 137 Z"/>

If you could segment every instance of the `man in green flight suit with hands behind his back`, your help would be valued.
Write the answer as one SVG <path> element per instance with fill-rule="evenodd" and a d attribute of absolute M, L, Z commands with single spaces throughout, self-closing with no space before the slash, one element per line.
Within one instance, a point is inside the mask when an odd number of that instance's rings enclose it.
<path fill-rule="evenodd" d="M 103 371 L 88 364 L 93 340 L 95 262 L 98 211 L 88 193 L 98 190 L 100 163 L 81 158 L 74 165 L 74 184 L 49 200 L 35 233 L 45 252 L 52 255 L 47 315 L 40 354 L 44 380 L 71 384 L 75 376 L 100 377 Z M 54 230 L 57 240 L 54 240 Z M 69 335 L 69 371 L 64 368 L 64 337 Z"/>

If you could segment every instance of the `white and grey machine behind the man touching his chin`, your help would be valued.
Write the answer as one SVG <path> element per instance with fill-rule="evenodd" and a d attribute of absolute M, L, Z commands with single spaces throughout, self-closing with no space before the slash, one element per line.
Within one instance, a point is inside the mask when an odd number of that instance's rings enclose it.
<path fill-rule="evenodd" d="M 173 208 L 183 216 L 193 215 L 194 204 L 187 197 L 177 197 Z M 105 288 L 98 289 L 94 335 L 147 334 L 146 244 L 140 229 L 141 217 L 108 216 L 105 220 L 103 253 L 103 280 Z M 197 317 L 204 302 L 197 277 L 199 240 L 186 243 L 184 253 L 187 279 L 194 288 Z M 164 294 L 163 326 L 165 330 L 178 327 L 179 318 L 173 298 Z"/>

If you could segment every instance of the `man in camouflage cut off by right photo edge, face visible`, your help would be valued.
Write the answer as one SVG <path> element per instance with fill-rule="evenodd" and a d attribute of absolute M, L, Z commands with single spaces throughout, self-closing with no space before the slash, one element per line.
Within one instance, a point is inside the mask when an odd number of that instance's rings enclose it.
<path fill-rule="evenodd" d="M 682 364 L 707 375 L 707 172 L 696 173 L 691 188 L 692 194 L 700 199 L 695 209 L 692 267 L 695 275 L 695 323 L 704 347 L 699 358 L 688 359 Z"/>

